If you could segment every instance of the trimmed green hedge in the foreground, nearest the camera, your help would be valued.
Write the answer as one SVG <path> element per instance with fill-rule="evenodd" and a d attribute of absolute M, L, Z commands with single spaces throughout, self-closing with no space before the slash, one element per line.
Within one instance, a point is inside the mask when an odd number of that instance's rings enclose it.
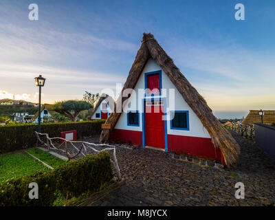
<path fill-rule="evenodd" d="M 85 192 L 97 192 L 113 179 L 109 153 L 87 155 L 54 170 L 3 181 L 0 206 L 53 206 L 56 201 L 72 199 Z M 30 199 L 31 182 L 39 186 L 39 199 Z"/>

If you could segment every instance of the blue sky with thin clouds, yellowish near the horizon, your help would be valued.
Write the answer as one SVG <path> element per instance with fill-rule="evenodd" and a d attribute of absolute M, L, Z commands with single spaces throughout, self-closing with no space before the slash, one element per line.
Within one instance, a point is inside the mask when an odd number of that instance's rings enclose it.
<path fill-rule="evenodd" d="M 28 5 L 39 5 L 39 21 Z M 234 5 L 245 5 L 245 21 Z M 0 1 L 0 98 L 81 99 L 124 83 L 151 32 L 214 111 L 275 109 L 275 1 Z"/>

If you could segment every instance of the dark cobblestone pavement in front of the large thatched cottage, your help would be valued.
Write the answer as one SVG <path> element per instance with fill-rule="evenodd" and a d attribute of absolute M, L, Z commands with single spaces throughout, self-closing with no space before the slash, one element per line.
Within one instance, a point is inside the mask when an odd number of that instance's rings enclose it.
<path fill-rule="evenodd" d="M 126 184 L 91 205 L 274 206 L 275 161 L 252 141 L 231 133 L 241 146 L 239 166 L 232 170 L 180 161 L 163 151 L 118 147 Z M 239 181 L 245 185 L 245 199 L 234 197 Z"/>

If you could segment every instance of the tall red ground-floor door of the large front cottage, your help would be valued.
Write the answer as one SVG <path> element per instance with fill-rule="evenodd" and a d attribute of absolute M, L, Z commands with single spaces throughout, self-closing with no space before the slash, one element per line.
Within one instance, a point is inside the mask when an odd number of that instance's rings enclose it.
<path fill-rule="evenodd" d="M 163 105 L 147 105 L 145 107 L 145 144 L 165 148 Z"/>

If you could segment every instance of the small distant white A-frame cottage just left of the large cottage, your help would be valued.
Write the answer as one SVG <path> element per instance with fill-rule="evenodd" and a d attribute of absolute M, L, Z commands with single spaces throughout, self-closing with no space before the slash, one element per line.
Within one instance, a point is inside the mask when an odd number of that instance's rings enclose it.
<path fill-rule="evenodd" d="M 115 100 L 107 94 L 102 94 L 96 103 L 94 111 L 91 113 L 91 120 L 107 119 L 113 109 Z"/>

